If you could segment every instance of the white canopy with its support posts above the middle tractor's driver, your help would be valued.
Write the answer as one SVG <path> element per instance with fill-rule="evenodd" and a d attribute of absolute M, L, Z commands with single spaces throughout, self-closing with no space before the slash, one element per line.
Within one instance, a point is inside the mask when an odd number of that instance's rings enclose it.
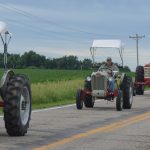
<path fill-rule="evenodd" d="M 94 40 L 93 44 L 90 48 L 90 52 L 92 55 L 92 59 L 93 59 L 93 64 L 94 59 L 95 59 L 95 51 L 98 48 L 115 48 L 119 50 L 119 55 L 122 61 L 122 66 L 123 66 L 123 55 L 122 55 L 122 51 L 124 49 L 123 47 L 123 43 L 121 42 L 121 40 Z"/>

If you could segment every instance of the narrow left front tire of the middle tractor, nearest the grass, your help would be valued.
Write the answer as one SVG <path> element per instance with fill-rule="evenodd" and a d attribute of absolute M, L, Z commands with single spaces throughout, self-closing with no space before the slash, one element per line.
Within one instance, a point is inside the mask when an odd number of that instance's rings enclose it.
<path fill-rule="evenodd" d="M 76 93 L 76 107 L 77 107 L 77 109 L 83 108 L 83 99 L 82 99 L 82 90 L 81 89 L 77 90 L 77 93 Z"/>

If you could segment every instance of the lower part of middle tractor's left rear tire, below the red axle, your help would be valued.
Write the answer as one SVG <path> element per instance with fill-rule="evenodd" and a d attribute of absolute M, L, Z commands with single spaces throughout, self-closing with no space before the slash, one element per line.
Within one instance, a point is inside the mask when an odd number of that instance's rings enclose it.
<path fill-rule="evenodd" d="M 91 95 L 86 95 L 84 100 L 85 107 L 93 108 L 95 103 L 95 99 Z"/>

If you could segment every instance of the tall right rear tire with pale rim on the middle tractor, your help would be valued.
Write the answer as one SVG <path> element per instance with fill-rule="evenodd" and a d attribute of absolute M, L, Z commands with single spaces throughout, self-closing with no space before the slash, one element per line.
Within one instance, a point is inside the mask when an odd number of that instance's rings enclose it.
<path fill-rule="evenodd" d="M 131 109 L 133 102 L 132 78 L 125 76 L 123 80 L 123 108 Z"/>

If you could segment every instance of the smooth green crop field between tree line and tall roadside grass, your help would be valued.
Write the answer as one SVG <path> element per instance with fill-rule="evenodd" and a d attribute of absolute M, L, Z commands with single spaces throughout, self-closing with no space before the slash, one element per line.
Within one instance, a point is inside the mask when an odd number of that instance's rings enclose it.
<path fill-rule="evenodd" d="M 31 83 L 68 81 L 85 78 L 91 70 L 15 69 L 16 73 L 28 75 Z"/>

